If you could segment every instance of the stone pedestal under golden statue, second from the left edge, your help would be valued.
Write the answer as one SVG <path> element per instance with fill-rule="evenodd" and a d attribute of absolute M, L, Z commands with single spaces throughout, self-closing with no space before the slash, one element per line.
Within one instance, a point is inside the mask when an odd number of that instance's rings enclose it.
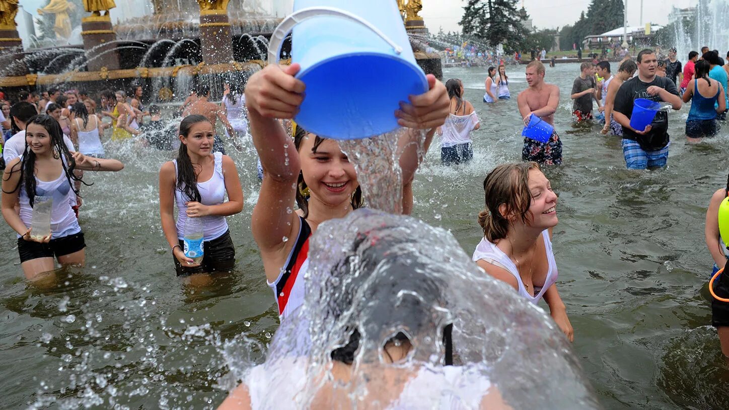
<path fill-rule="evenodd" d="M 87 70 L 101 71 L 101 67 L 118 70 L 119 53 L 117 45 L 112 43 L 117 39 L 117 34 L 112 30 L 112 19 L 109 18 L 109 14 L 82 18 L 81 29 L 84 50 L 87 53 Z"/>

